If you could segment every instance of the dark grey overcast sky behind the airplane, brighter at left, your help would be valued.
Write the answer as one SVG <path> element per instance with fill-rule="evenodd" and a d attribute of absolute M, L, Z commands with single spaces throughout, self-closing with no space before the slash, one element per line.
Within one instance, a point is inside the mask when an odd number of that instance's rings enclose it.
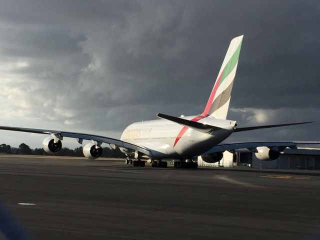
<path fill-rule="evenodd" d="M 2 0 L 0 125 L 119 138 L 158 112 L 199 114 L 244 34 L 227 118 L 317 122 L 229 140 L 320 140 L 319 26 L 318 0 Z M 33 148 L 44 138 L 0 135 Z"/>

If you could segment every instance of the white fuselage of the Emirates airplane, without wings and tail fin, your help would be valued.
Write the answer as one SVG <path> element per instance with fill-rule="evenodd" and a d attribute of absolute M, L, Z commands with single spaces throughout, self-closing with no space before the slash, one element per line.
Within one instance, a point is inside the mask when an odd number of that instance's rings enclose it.
<path fill-rule="evenodd" d="M 191 120 L 196 116 L 185 116 Z M 200 155 L 228 137 L 234 121 L 216 119 L 208 116 L 198 120 L 221 129 L 211 133 L 202 133 L 166 119 L 134 122 L 128 125 L 121 135 L 121 140 L 144 147 L 156 158 L 187 159 Z M 182 130 L 184 128 L 184 130 Z M 181 132 L 182 130 L 182 132 Z"/>

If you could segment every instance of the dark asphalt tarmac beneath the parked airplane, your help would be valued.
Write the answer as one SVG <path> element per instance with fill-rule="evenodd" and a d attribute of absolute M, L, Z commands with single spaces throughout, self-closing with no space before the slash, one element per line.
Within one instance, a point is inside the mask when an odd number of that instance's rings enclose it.
<path fill-rule="evenodd" d="M 0 182 L 33 239 L 320 238 L 316 174 L 1 155 Z"/>

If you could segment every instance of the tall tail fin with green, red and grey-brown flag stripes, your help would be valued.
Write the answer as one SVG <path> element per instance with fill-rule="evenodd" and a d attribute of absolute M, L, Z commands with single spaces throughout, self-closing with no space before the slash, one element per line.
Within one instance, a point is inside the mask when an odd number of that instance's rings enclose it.
<path fill-rule="evenodd" d="M 229 108 L 233 79 L 238 64 L 243 35 L 233 38 L 225 54 L 219 74 L 202 116 L 225 119 Z"/>

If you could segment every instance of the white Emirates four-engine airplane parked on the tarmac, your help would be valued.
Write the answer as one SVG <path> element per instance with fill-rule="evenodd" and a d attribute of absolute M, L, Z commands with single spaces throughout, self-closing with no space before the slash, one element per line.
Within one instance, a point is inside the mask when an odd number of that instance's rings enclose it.
<path fill-rule="evenodd" d="M 123 130 L 120 139 L 61 130 L 12 126 L 0 126 L 0 129 L 49 134 L 50 136 L 43 140 L 42 148 L 51 154 L 57 153 L 62 148 L 63 137 L 76 138 L 80 144 L 84 139 L 90 140 L 91 142 L 83 147 L 83 154 L 89 159 L 101 156 L 101 144 L 104 142 L 113 149 L 119 147 L 127 156 L 126 164 L 145 166 L 145 161 L 141 158 L 148 158 L 151 159 L 152 167 L 167 167 L 165 159 L 174 159 L 174 167 L 196 168 L 197 163 L 193 160 L 196 156 L 201 156 L 204 161 L 213 163 L 222 159 L 223 151 L 234 153 L 243 148 L 255 152 L 257 158 L 261 160 L 273 160 L 286 147 L 296 149 L 297 144 L 317 143 L 302 141 L 223 142 L 233 132 L 312 122 L 237 127 L 235 120 L 226 119 L 242 38 L 243 35 L 240 35 L 230 41 L 205 108 L 199 115 L 176 117 L 158 113 L 157 116 L 161 119 L 139 121 L 128 125 Z"/>

